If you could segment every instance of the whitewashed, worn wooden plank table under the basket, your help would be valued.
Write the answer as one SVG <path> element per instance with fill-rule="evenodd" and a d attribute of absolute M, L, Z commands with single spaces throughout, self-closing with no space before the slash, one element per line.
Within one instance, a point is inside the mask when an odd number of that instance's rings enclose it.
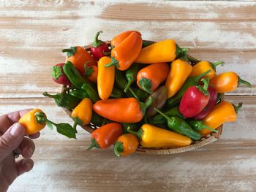
<path fill-rule="evenodd" d="M 218 142 L 178 155 L 117 158 L 113 149 L 90 150 L 89 134 L 69 140 L 45 128 L 35 141 L 34 169 L 10 191 L 255 191 L 256 190 L 255 1 L 0 1 L 0 112 L 42 108 L 51 120 L 72 121 L 44 91 L 61 49 L 86 45 L 135 29 L 143 39 L 176 39 L 189 53 L 225 61 L 217 72 L 236 71 L 252 82 L 226 99 L 244 107 L 224 126 Z"/>

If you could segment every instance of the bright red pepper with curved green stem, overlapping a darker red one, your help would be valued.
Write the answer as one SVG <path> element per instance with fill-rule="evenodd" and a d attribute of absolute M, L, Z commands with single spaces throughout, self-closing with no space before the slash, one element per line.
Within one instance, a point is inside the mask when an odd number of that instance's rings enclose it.
<path fill-rule="evenodd" d="M 210 99 L 208 93 L 208 83 L 209 80 L 202 79 L 203 86 L 191 86 L 187 89 L 182 96 L 181 103 L 179 105 L 179 111 L 184 116 L 184 118 L 192 118 L 201 112 Z"/>

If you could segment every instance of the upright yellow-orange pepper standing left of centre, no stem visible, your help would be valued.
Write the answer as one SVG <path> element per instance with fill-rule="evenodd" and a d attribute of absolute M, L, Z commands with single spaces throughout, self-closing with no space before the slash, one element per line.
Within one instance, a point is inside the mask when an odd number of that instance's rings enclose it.
<path fill-rule="evenodd" d="M 111 58 L 107 56 L 100 58 L 98 62 L 97 88 L 102 100 L 110 97 L 115 82 L 115 66 L 105 67 L 110 62 Z"/>

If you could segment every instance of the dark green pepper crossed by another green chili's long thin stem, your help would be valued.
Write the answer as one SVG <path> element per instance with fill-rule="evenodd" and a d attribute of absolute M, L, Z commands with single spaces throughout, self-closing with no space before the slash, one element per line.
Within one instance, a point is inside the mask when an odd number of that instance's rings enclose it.
<path fill-rule="evenodd" d="M 165 115 L 167 115 L 169 117 L 178 116 L 180 118 L 183 118 L 183 115 L 181 115 L 181 112 L 179 112 L 178 108 L 179 108 L 179 106 L 177 105 L 175 107 L 172 107 L 172 108 L 166 110 L 164 113 L 165 113 Z M 161 124 L 161 123 L 167 123 L 167 120 L 161 114 L 157 114 L 151 118 L 151 122 L 153 122 L 154 124 Z"/>

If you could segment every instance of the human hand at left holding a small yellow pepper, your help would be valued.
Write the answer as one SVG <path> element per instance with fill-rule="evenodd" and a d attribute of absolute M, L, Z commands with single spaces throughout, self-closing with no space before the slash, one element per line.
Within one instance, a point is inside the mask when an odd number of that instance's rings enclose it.
<path fill-rule="evenodd" d="M 20 110 L 0 116 L 0 191 L 7 191 L 12 182 L 23 174 L 29 172 L 34 161 L 31 156 L 35 145 L 31 139 L 39 137 L 39 132 L 26 137 L 25 128 L 17 123 L 21 116 L 29 110 Z M 23 158 L 15 161 L 13 150 Z"/>

